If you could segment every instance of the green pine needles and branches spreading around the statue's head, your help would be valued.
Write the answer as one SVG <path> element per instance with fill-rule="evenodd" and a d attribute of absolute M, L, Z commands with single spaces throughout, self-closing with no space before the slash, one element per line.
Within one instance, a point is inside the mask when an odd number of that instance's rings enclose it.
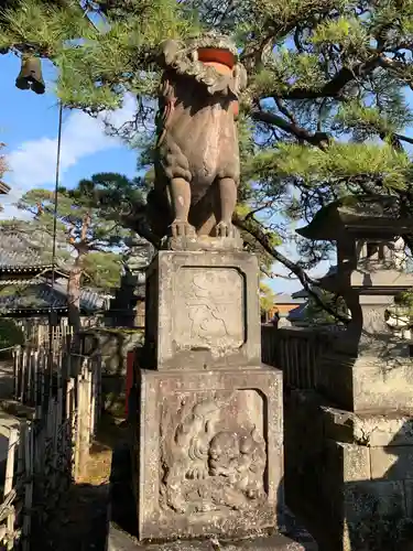
<path fill-rule="evenodd" d="M 252 235 L 269 239 L 273 257 L 290 237 L 292 219 L 308 220 L 343 195 L 391 193 L 413 212 L 405 147 L 412 142 L 405 128 L 412 123 L 406 89 L 413 87 L 413 0 L 105 6 L 98 2 L 85 17 L 74 0 L 64 9 L 52 0 L 15 0 L 0 15 L 0 46 L 22 52 L 30 43 L 51 58 L 58 68 L 57 94 L 68 106 L 115 108 L 126 90 L 137 94 L 134 130 L 122 137 L 144 145 L 140 169 L 152 161 L 160 42 L 214 29 L 237 41 L 249 78 L 239 120 L 238 214 Z M 262 255 L 262 266 L 270 264 L 262 242 L 249 231 L 243 236 Z M 313 266 L 317 258 L 324 256 L 308 247 L 302 263 Z"/>

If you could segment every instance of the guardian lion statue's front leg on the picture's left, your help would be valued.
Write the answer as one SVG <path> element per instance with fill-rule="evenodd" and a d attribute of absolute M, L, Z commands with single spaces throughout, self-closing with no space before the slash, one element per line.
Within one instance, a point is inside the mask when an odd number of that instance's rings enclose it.
<path fill-rule="evenodd" d="M 174 177 L 167 186 L 169 199 L 174 216 L 171 224 L 173 237 L 196 235 L 194 226 L 188 223 L 191 208 L 191 186 L 189 182 L 183 177 Z"/>

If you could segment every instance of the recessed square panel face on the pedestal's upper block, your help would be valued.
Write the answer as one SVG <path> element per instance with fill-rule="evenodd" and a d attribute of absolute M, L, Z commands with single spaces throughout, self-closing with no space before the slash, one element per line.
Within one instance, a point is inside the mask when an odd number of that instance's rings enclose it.
<path fill-rule="evenodd" d="M 244 342 L 243 279 L 233 268 L 183 268 L 176 276 L 180 348 L 227 350 Z"/>

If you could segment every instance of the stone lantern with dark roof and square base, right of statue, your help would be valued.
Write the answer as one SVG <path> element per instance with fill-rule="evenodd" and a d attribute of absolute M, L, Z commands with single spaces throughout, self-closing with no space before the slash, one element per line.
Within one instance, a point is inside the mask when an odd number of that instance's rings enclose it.
<path fill-rule="evenodd" d="M 319 390 L 355 411 L 413 409 L 410 318 L 394 302 L 413 287 L 403 267 L 403 240 L 411 219 L 395 197 L 345 197 L 323 207 L 297 233 L 337 245 L 337 270 L 322 289 L 343 296 L 350 312 L 345 332 L 334 335 L 319 366 Z"/>

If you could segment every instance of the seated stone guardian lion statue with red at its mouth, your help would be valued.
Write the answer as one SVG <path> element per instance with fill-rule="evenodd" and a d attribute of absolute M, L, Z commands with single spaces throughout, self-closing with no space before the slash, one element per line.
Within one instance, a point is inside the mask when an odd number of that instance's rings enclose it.
<path fill-rule="evenodd" d="M 235 45 L 215 34 L 187 44 L 166 41 L 162 63 L 155 184 L 148 198 L 152 229 L 159 237 L 235 237 L 236 119 L 246 71 Z"/>

